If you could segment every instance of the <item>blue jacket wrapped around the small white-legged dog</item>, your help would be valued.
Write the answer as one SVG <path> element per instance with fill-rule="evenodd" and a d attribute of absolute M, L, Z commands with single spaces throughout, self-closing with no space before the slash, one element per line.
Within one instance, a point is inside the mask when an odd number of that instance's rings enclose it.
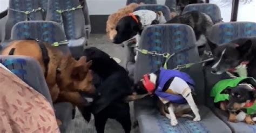
<path fill-rule="evenodd" d="M 171 78 L 173 78 L 170 85 L 171 88 L 163 90 L 164 85 Z M 179 82 L 180 80 L 184 80 L 187 84 L 182 84 L 182 82 Z M 176 104 L 185 104 L 187 101 L 184 96 L 190 93 L 191 89 L 194 90 L 194 85 L 194 81 L 187 73 L 161 68 L 155 93 L 163 102 L 169 101 Z M 177 94 L 173 94 L 173 92 Z"/>

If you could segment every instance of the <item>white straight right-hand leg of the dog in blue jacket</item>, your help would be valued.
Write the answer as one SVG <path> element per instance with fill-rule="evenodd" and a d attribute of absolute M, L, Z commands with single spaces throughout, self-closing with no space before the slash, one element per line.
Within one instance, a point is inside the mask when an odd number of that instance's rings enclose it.
<path fill-rule="evenodd" d="M 192 112 L 194 113 L 194 115 L 196 117 L 194 117 L 193 121 L 200 121 L 201 120 L 201 116 L 199 114 L 199 109 L 197 108 L 196 103 L 194 102 L 194 99 L 192 97 L 191 93 L 188 93 L 188 95 L 186 97 L 184 97 L 187 101 L 187 104 L 191 107 Z"/>

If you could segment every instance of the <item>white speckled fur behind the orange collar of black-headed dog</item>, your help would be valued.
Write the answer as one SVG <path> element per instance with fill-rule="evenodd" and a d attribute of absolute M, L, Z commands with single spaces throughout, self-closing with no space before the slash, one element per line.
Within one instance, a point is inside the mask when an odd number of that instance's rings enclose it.
<path fill-rule="evenodd" d="M 138 10 L 132 13 L 133 15 L 130 14 L 134 20 L 137 21 L 138 19 L 135 17 L 136 15 L 139 16 L 140 18 L 140 23 L 142 23 L 142 28 L 145 26 L 151 25 L 153 20 L 158 20 L 158 15 L 156 12 L 153 12 L 151 10 Z"/>

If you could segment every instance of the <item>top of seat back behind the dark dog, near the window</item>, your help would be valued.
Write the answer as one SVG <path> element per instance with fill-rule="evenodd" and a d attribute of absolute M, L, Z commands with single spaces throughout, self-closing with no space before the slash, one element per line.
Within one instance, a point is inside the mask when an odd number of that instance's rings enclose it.
<path fill-rule="evenodd" d="M 214 24 L 219 23 L 223 20 L 223 18 L 221 18 L 219 6 L 216 4 L 189 4 L 185 6 L 182 14 L 193 10 L 206 13 L 212 18 Z"/>

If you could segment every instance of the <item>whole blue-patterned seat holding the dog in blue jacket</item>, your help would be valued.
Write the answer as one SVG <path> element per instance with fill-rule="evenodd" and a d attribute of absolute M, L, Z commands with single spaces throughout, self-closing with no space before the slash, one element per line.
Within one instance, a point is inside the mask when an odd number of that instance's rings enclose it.
<path fill-rule="evenodd" d="M 200 61 L 195 45 L 196 37 L 190 26 L 182 24 L 152 25 L 144 29 L 139 42 L 139 49 L 157 51 L 157 53 L 176 53 L 170 58 L 167 67 L 176 68 L 177 65 Z M 186 50 L 185 50 L 186 49 Z M 184 50 L 179 53 L 179 51 Z M 156 71 L 164 63 L 161 56 L 138 54 L 134 80 L 137 82 L 145 73 Z M 196 101 L 201 115 L 201 121 L 178 118 L 176 127 L 170 125 L 170 120 L 161 116 L 154 104 L 154 99 L 144 98 L 134 101 L 134 112 L 139 123 L 140 132 L 231 132 L 227 125 L 218 119 L 211 110 L 204 106 L 205 89 L 203 68 L 194 65 L 183 69 L 196 82 Z M 214 122 L 213 122 L 214 121 Z M 218 128 L 216 128 L 218 127 Z"/>

